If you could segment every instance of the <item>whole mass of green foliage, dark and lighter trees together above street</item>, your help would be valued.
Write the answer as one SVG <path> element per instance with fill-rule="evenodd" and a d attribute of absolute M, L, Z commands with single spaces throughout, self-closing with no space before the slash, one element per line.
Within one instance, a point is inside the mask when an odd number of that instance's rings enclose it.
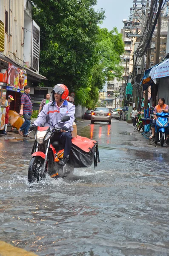
<path fill-rule="evenodd" d="M 47 86 L 64 83 L 75 103 L 95 105 L 106 80 L 120 78 L 123 42 L 117 29 L 100 29 L 96 0 L 32 0 L 40 26 L 40 73 Z"/>

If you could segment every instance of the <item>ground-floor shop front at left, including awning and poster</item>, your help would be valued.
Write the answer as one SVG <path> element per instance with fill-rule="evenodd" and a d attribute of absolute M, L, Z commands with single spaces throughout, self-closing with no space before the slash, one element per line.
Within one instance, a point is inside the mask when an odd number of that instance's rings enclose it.
<path fill-rule="evenodd" d="M 20 112 L 20 99 L 22 93 L 24 93 L 24 87 L 29 85 L 33 89 L 42 80 L 47 79 L 0 52 L 0 131 L 5 127 L 5 105 L 8 96 L 11 95 L 14 98 L 10 105 L 10 111 L 13 111 L 15 113 L 14 117 L 16 117 Z M 33 104 L 34 95 L 32 95 L 31 99 Z"/>

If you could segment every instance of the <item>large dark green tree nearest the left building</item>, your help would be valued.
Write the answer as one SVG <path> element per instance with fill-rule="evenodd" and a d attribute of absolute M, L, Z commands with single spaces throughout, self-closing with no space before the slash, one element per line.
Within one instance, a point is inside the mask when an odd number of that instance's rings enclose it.
<path fill-rule="evenodd" d="M 46 84 L 63 82 L 78 95 L 90 87 L 97 63 L 98 23 L 104 12 L 95 12 L 96 0 L 33 0 L 33 17 L 40 26 L 40 73 Z M 86 89 L 86 93 L 89 89 Z"/>

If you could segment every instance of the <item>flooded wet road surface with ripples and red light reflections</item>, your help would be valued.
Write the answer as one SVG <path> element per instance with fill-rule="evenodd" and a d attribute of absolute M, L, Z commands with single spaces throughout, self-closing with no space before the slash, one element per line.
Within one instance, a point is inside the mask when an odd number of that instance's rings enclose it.
<path fill-rule="evenodd" d="M 126 122 L 95 123 L 100 163 L 33 188 L 33 140 L 0 140 L 0 240 L 39 256 L 168 256 L 169 147 Z"/>

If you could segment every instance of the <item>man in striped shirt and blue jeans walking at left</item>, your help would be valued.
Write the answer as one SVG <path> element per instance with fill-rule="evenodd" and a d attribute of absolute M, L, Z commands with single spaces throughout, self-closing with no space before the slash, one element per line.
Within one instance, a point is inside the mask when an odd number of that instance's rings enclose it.
<path fill-rule="evenodd" d="M 20 136 L 23 137 L 29 137 L 31 136 L 28 135 L 28 130 L 30 126 L 30 121 L 25 118 L 25 114 L 28 114 L 29 116 L 32 115 L 32 102 L 31 102 L 31 97 L 29 95 L 31 90 L 31 87 L 29 85 L 26 85 L 24 87 L 24 93 L 21 97 L 21 106 L 20 106 L 20 116 L 23 116 L 25 119 L 25 122 L 23 125 L 19 128 L 18 133 Z"/>

